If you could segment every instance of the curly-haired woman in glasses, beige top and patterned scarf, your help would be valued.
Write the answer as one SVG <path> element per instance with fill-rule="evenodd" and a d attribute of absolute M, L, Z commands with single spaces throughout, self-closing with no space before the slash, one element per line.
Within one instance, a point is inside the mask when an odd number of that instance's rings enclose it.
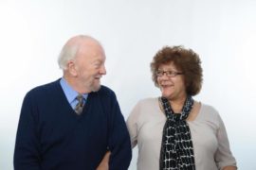
<path fill-rule="evenodd" d="M 203 80 L 198 55 L 182 46 L 163 47 L 151 71 L 161 96 L 139 101 L 127 120 L 138 146 L 137 170 L 235 170 L 219 113 L 192 98 Z"/>

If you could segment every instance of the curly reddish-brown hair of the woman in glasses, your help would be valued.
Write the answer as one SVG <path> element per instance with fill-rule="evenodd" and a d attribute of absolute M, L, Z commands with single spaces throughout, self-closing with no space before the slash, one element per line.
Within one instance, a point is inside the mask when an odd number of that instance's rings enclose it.
<path fill-rule="evenodd" d="M 152 79 L 156 87 L 159 87 L 159 85 L 155 72 L 161 64 L 168 63 L 174 63 L 175 67 L 184 73 L 187 94 L 193 96 L 200 92 L 203 82 L 203 70 L 199 56 L 192 49 L 186 49 L 183 46 L 164 46 L 155 54 L 150 66 Z"/>

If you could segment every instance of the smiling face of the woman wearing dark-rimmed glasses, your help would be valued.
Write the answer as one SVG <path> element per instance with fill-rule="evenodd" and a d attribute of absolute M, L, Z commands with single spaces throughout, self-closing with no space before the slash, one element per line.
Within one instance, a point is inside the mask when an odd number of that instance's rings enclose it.
<path fill-rule="evenodd" d="M 162 96 L 169 100 L 176 100 L 187 96 L 184 76 L 180 70 L 177 70 L 173 62 L 161 64 L 158 71 L 164 72 L 162 76 L 157 76 L 157 83 Z M 170 74 L 170 72 L 168 75 L 166 72 L 169 71 L 172 71 L 173 74 Z"/>

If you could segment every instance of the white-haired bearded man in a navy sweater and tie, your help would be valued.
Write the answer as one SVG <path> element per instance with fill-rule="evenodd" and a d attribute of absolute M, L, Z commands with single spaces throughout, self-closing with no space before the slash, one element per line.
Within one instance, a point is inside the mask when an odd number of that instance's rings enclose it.
<path fill-rule="evenodd" d="M 101 43 L 76 36 L 59 57 L 64 76 L 25 96 L 14 151 L 14 169 L 127 170 L 132 151 L 115 93 L 106 75 Z M 109 153 L 109 152 L 107 152 Z"/>

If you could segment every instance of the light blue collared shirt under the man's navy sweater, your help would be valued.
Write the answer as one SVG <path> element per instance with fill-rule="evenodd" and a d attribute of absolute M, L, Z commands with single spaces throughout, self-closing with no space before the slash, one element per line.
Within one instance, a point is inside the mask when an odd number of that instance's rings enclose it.
<path fill-rule="evenodd" d="M 73 110 L 75 109 L 76 105 L 78 104 L 78 100 L 76 99 L 76 97 L 79 95 L 78 92 L 76 92 L 64 79 L 64 77 L 61 78 L 60 80 L 61 86 L 64 90 L 64 95 L 68 101 L 68 103 L 70 104 L 70 106 L 73 108 Z M 82 93 L 83 96 L 83 102 L 86 101 L 87 97 L 88 97 L 88 93 Z"/>

